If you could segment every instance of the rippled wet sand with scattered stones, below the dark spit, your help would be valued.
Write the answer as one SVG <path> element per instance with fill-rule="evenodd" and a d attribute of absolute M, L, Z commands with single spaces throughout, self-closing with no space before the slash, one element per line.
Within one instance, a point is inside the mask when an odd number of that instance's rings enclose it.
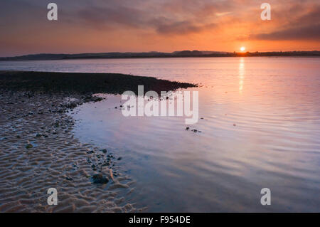
<path fill-rule="evenodd" d="M 137 211 L 127 199 L 134 182 L 117 157 L 73 137 L 63 102 L 64 95 L 1 91 L 0 212 Z M 98 172 L 110 181 L 92 184 Z M 58 206 L 47 204 L 49 188 L 58 190 Z"/>

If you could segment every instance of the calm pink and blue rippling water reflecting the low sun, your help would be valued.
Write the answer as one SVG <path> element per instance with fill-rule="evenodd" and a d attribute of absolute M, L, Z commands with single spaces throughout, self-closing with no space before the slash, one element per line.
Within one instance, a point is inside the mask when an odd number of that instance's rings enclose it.
<path fill-rule="evenodd" d="M 0 63 L 0 70 L 131 73 L 201 83 L 199 119 L 124 117 L 120 97 L 79 107 L 76 137 L 122 157 L 147 211 L 320 211 L 320 58 Z M 235 126 L 234 126 L 235 124 Z M 271 190 L 271 206 L 260 190 Z"/>

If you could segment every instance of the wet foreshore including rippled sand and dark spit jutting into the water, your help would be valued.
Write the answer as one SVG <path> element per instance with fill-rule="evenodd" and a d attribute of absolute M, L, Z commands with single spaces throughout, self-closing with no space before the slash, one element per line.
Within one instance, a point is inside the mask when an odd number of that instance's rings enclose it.
<path fill-rule="evenodd" d="M 143 210 L 129 199 L 134 181 L 120 171 L 121 157 L 81 144 L 68 112 L 83 102 L 99 101 L 92 93 L 119 93 L 150 81 L 149 88 L 159 83 L 159 88 L 172 90 L 178 83 L 131 75 L 119 75 L 122 80 L 114 82 L 117 75 L 104 74 L 96 79 L 113 81 L 112 86 L 95 85 L 97 80 L 88 85 L 85 74 L 77 75 L 0 72 L 0 212 Z M 123 85 L 128 78 L 132 83 Z M 107 184 L 95 184 L 95 174 L 102 174 Z M 47 204 L 50 188 L 58 191 L 58 206 Z"/>

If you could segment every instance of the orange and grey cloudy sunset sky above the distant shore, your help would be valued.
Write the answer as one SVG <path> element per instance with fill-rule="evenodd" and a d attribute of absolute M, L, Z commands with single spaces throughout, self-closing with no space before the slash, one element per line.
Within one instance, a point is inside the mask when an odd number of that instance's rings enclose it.
<path fill-rule="evenodd" d="M 58 5 L 48 21 L 47 5 Z M 262 21 L 262 3 L 271 21 Z M 0 56 L 320 50 L 319 0 L 0 0 Z"/>

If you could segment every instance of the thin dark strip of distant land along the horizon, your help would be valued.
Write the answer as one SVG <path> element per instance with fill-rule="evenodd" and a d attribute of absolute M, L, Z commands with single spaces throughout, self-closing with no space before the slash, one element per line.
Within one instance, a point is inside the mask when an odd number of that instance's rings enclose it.
<path fill-rule="evenodd" d="M 0 58 L 5 60 L 64 60 L 64 59 L 104 59 L 104 58 L 191 58 L 191 57 L 320 57 L 320 51 L 287 51 L 287 52 L 246 52 L 230 53 L 217 51 L 176 51 L 173 53 L 144 52 L 144 53 L 77 53 L 55 54 L 41 53 L 26 56 Z"/>

